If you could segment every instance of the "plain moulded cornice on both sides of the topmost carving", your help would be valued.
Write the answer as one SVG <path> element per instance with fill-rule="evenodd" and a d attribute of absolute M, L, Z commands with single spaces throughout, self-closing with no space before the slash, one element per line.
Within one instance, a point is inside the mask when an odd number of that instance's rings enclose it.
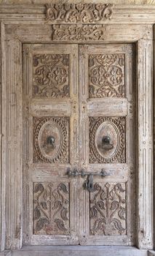
<path fill-rule="evenodd" d="M 8 11 L 9 7 L 9 11 Z M 151 5 L 114 5 L 114 13 L 108 23 L 143 23 L 154 24 L 155 7 Z M 0 20 L 13 21 L 14 23 L 44 23 L 44 4 L 1 4 Z M 53 22 L 55 23 L 55 21 Z M 105 23 L 105 22 L 104 22 Z"/>

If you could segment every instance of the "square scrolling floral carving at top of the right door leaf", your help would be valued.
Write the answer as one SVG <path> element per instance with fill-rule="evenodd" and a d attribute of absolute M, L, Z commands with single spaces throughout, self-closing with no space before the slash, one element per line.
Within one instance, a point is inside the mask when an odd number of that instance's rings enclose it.
<path fill-rule="evenodd" d="M 124 97 L 124 54 L 89 56 L 90 98 Z"/>

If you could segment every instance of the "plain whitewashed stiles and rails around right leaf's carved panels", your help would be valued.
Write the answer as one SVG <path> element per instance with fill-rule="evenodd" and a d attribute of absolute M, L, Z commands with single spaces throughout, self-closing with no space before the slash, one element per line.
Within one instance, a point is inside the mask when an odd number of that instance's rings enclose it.
<path fill-rule="evenodd" d="M 80 111 L 80 164 L 81 169 L 86 171 L 100 173 L 102 168 L 113 170 L 113 174 L 106 178 L 94 178 L 95 182 L 127 182 L 127 236 L 90 236 L 90 213 L 89 202 L 90 196 L 87 191 L 81 190 L 80 202 L 82 209 L 80 218 L 81 244 L 115 244 L 115 245 L 133 245 L 135 243 L 135 224 L 133 219 L 135 216 L 135 89 L 133 84 L 134 68 L 134 52 L 132 45 L 80 45 L 79 48 L 79 105 L 82 106 Z M 91 98 L 89 99 L 89 71 L 88 71 L 88 56 L 90 54 L 106 54 L 106 53 L 124 53 L 125 54 L 125 97 L 120 98 Z M 115 102 L 114 102 L 115 101 Z M 116 108 L 116 105 L 119 108 Z M 114 107 L 115 106 L 115 107 Z M 114 111 L 115 108 L 115 111 Z M 126 146 L 127 146 L 127 163 L 93 163 L 89 162 L 90 155 L 90 126 L 89 116 L 126 116 Z M 119 170 L 125 168 L 126 172 Z M 132 174 L 131 174 L 132 173 Z M 81 181 L 81 187 L 84 179 Z M 132 202 L 132 203 L 131 203 Z M 84 228 L 85 227 L 85 228 Z"/>

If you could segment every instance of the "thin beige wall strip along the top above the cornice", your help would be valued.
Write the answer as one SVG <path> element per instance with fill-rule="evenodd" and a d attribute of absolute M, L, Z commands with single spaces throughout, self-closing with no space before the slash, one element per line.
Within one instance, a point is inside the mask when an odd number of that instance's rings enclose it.
<path fill-rule="evenodd" d="M 60 2 L 60 0 L 58 0 Z M 1 4 L 47 4 L 49 2 L 57 2 L 57 0 L 0 0 Z M 152 4 L 155 5 L 155 0 L 68 0 L 62 2 L 94 2 L 94 3 L 114 3 L 114 4 Z"/>

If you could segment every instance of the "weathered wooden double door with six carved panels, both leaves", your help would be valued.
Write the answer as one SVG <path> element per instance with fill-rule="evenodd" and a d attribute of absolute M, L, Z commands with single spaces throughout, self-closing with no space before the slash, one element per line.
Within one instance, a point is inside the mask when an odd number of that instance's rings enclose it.
<path fill-rule="evenodd" d="M 25 244 L 135 244 L 134 54 L 23 45 Z"/>

